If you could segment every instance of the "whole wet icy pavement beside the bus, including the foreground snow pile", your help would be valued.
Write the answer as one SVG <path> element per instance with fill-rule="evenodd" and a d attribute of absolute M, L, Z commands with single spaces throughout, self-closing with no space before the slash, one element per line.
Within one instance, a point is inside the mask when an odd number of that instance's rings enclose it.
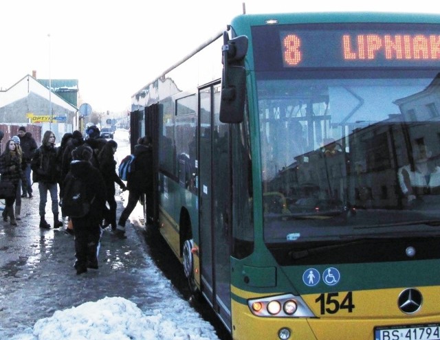
<path fill-rule="evenodd" d="M 140 205 L 128 238 L 104 230 L 99 269 L 76 275 L 73 236 L 39 228 L 38 185 L 32 188 L 19 225 L 0 221 L 0 339 L 219 339 L 148 255 Z M 117 216 L 127 196 L 116 195 Z M 50 199 L 46 218 L 52 225 Z"/>

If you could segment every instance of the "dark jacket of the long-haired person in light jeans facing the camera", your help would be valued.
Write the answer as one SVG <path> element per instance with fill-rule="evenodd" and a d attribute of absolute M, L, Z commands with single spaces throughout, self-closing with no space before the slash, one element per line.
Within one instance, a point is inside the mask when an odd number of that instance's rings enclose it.
<path fill-rule="evenodd" d="M 58 150 L 55 146 L 42 145 L 34 152 L 31 165 L 34 182 L 58 183 L 61 164 L 58 163 Z"/>

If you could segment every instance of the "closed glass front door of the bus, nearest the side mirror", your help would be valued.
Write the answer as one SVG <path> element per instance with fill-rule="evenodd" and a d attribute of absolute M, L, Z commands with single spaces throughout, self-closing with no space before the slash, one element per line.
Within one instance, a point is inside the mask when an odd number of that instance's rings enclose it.
<path fill-rule="evenodd" d="M 220 85 L 199 91 L 199 197 L 202 292 L 230 325 L 229 126 L 219 121 Z"/>

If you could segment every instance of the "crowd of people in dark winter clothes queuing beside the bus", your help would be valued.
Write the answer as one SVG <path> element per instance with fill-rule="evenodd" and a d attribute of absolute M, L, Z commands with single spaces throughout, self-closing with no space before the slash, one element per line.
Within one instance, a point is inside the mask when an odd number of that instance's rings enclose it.
<path fill-rule="evenodd" d="M 37 147 L 32 135 L 26 133 L 25 127 L 21 126 L 17 136 L 7 141 L 5 151 L 0 155 L 0 181 L 12 183 L 15 193 L 5 199 L 3 220 L 9 220 L 10 225 L 17 225 L 17 220 L 21 219 L 21 199 L 32 199 L 32 184 L 38 183 L 39 227 L 62 227 L 60 210 L 63 218 L 68 218 L 73 225 L 76 252 L 74 268 L 78 275 L 87 272 L 87 268 L 98 269 L 98 249 L 103 229 L 110 225 L 113 235 L 126 238 L 126 220 L 141 194 L 150 192 L 153 187 L 153 174 L 148 172 L 152 170 L 151 139 L 144 137 L 138 140 L 135 146 L 135 172 L 127 180 L 127 187 L 115 171 L 114 154 L 118 144 L 113 140 L 100 138 L 100 131 L 96 126 L 88 128 L 86 133 L 87 139 L 83 138 L 80 131 L 66 133 L 61 146 L 56 146 L 54 133 L 45 131 L 41 146 Z M 85 191 L 81 192 L 87 201 L 85 214 L 65 214 L 67 207 L 64 209 L 63 202 L 67 205 L 68 195 L 72 195 L 72 181 L 85 185 Z M 123 191 L 127 188 L 129 190 L 129 202 L 118 225 L 115 183 Z M 47 192 L 51 199 L 52 226 L 45 216 Z"/>

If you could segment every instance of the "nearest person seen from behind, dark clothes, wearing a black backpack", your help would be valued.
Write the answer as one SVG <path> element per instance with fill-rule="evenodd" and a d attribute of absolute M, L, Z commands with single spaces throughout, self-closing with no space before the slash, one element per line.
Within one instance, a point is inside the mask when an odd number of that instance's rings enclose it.
<path fill-rule="evenodd" d="M 87 272 L 87 268 L 98 269 L 106 190 L 100 171 L 91 165 L 93 150 L 82 145 L 72 152 L 73 161 L 65 177 L 63 191 L 63 214 L 72 219 L 75 236 L 74 268 L 76 274 Z"/>

